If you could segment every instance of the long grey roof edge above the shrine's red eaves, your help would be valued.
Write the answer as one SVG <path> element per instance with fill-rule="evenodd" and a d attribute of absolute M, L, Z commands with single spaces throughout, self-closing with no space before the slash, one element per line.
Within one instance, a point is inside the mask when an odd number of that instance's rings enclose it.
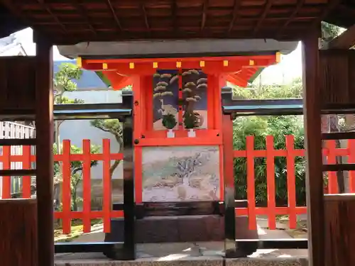
<path fill-rule="evenodd" d="M 166 58 L 288 54 L 297 45 L 297 41 L 279 42 L 272 39 L 129 40 L 59 45 L 58 50 L 65 57 L 83 59 Z"/>

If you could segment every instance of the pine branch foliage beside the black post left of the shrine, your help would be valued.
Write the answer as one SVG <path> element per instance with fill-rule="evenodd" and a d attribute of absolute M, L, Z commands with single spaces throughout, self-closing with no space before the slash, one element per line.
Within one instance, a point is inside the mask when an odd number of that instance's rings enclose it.
<path fill-rule="evenodd" d="M 98 128 L 101 131 L 111 133 L 114 135 L 117 143 L 119 143 L 119 153 L 122 152 L 124 148 L 124 137 L 123 137 L 123 128 L 119 119 L 96 119 L 90 121 L 91 125 L 95 128 Z M 121 160 L 115 160 L 110 167 L 110 177 L 114 174 L 114 170 L 119 166 Z"/>

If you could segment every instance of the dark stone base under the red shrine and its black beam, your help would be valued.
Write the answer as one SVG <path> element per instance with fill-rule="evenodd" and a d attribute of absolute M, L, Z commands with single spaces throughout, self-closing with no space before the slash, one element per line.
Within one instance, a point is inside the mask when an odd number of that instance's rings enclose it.
<path fill-rule="evenodd" d="M 136 243 L 196 243 L 224 241 L 224 217 L 219 215 L 148 216 L 136 220 Z M 258 239 L 257 230 L 249 230 L 247 216 L 236 217 L 236 239 Z M 111 233 L 105 242 L 124 242 L 124 220 L 111 219 Z M 238 256 L 246 257 L 257 249 L 257 243 L 239 243 Z M 108 250 L 109 251 L 109 250 Z M 117 257 L 112 252 L 107 257 Z"/>

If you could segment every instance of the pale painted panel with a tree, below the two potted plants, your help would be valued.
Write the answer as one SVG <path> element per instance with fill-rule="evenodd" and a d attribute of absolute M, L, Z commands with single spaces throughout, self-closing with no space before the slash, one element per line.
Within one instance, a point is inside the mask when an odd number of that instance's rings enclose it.
<path fill-rule="evenodd" d="M 218 146 L 144 147 L 143 201 L 219 200 Z"/>

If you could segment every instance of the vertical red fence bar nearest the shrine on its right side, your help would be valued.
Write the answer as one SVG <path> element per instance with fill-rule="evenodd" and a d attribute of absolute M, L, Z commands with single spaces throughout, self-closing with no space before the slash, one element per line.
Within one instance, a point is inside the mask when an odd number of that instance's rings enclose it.
<path fill-rule="evenodd" d="M 248 198 L 249 228 L 256 229 L 255 209 L 255 169 L 254 169 L 254 136 L 246 136 L 246 196 Z"/>

